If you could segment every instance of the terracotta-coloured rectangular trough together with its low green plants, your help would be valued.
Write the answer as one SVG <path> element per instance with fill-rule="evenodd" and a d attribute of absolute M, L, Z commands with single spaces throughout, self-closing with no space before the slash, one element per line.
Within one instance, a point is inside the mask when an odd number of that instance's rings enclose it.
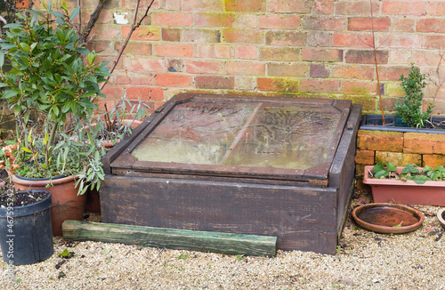
<path fill-rule="evenodd" d="M 382 162 L 365 166 L 363 183 L 371 186 L 375 203 L 445 206 L 445 167 L 397 167 Z"/>

